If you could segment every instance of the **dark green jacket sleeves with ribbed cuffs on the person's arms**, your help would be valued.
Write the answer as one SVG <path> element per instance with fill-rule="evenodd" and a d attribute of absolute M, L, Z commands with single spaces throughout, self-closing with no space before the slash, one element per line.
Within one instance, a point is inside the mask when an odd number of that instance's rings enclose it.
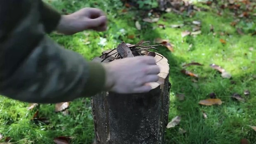
<path fill-rule="evenodd" d="M 101 92 L 105 69 L 64 49 L 46 33 L 60 14 L 41 0 L 0 0 L 0 94 L 57 103 Z"/>

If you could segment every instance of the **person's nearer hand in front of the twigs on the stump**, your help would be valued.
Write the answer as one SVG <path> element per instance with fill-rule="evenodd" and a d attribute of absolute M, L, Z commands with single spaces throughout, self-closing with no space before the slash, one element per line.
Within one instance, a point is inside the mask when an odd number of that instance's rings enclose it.
<path fill-rule="evenodd" d="M 136 56 L 117 59 L 104 64 L 106 69 L 106 90 L 128 94 L 149 92 L 151 82 L 159 80 L 159 66 L 154 57 Z"/>

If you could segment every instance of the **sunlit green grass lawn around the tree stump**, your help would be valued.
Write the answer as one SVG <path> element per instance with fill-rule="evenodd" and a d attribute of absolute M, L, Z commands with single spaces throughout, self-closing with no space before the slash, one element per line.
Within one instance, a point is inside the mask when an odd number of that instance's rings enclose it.
<path fill-rule="evenodd" d="M 155 38 L 168 39 L 174 45 L 175 52 L 171 53 L 166 47 L 159 47 L 159 53 L 168 58 L 170 64 L 170 93 L 169 120 L 181 116 L 180 125 L 166 130 L 166 144 L 238 144 L 240 139 L 246 138 L 251 144 L 256 144 L 256 132 L 248 125 L 256 125 L 256 36 L 251 36 L 256 29 L 256 17 L 241 18 L 237 27 L 243 29 L 245 35 L 239 35 L 236 28 L 230 26 L 235 17 L 228 10 L 223 16 L 216 12 L 197 12 L 189 18 L 175 13 L 161 16 L 157 24 L 165 24 L 166 29 L 152 27 L 141 20 L 135 10 L 127 14 L 121 11 L 125 7 L 120 0 L 52 0 L 49 1 L 56 9 L 74 12 L 82 7 L 99 7 L 108 13 L 106 32 L 97 33 L 85 31 L 75 35 L 64 36 L 51 34 L 50 36 L 64 47 L 81 53 L 86 59 L 99 56 L 103 50 L 116 47 L 122 40 L 126 43 L 137 43 L 139 40 Z M 97 5 L 95 5 L 97 2 Z M 200 4 L 198 4 L 200 5 Z M 204 5 L 204 7 L 209 8 Z M 214 9 L 211 9 L 214 10 Z M 135 20 L 139 20 L 142 30 L 135 28 Z M 164 19 L 166 21 L 164 21 Z M 192 25 L 182 28 L 171 28 L 171 24 L 202 21 L 200 35 L 181 37 L 180 33 L 191 30 Z M 210 24 L 214 26 L 216 35 L 210 32 Z M 122 29 L 125 32 L 122 32 Z M 220 35 L 227 32 L 230 35 Z M 128 35 L 136 35 L 129 39 Z M 100 38 L 106 38 L 106 45 L 99 45 Z M 226 44 L 220 43 L 226 40 Z M 189 50 L 189 45 L 192 47 Z M 249 48 L 254 47 L 253 51 Z M 180 72 L 183 63 L 192 61 L 204 66 L 190 66 L 187 70 L 199 75 L 198 83 L 192 82 L 191 77 Z M 224 79 L 213 70 L 209 64 L 218 64 L 232 74 L 231 79 Z M 251 94 L 245 97 L 244 90 Z M 209 93 L 215 92 L 217 98 L 224 103 L 220 106 L 201 106 L 199 100 L 207 99 Z M 185 100 L 179 101 L 176 94 L 185 94 Z M 233 93 L 239 93 L 246 99 L 245 103 L 236 102 L 230 98 Z M 72 144 L 90 144 L 94 138 L 93 120 L 91 116 L 90 99 L 76 99 L 69 106 L 69 115 L 55 113 L 54 105 L 43 104 L 40 108 L 28 111 L 28 104 L 6 97 L 0 97 L 0 134 L 11 137 L 17 144 L 53 144 L 58 136 L 75 137 Z M 33 114 L 39 110 L 39 116 L 50 119 L 49 125 L 31 122 Z M 202 112 L 207 113 L 207 119 Z M 181 135 L 179 128 L 186 130 Z M 3 141 L 3 140 L 2 140 Z"/>

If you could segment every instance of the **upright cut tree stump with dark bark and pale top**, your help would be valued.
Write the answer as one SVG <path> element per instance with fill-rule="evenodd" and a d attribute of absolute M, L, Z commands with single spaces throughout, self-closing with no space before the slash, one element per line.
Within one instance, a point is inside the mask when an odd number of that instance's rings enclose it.
<path fill-rule="evenodd" d="M 118 51 L 118 48 L 111 53 L 110 50 L 105 51 L 102 57 L 96 57 L 93 61 L 105 59 L 102 62 L 109 62 L 115 59 L 113 54 Z M 130 52 L 124 55 L 129 54 Z M 147 51 L 141 51 L 140 54 L 147 54 Z M 108 57 L 110 55 L 112 56 Z M 164 144 L 171 88 L 168 79 L 169 65 L 161 54 L 156 53 L 154 58 L 161 71 L 159 81 L 151 83 L 153 88 L 150 92 L 140 94 L 101 92 L 92 97 L 96 144 Z"/>

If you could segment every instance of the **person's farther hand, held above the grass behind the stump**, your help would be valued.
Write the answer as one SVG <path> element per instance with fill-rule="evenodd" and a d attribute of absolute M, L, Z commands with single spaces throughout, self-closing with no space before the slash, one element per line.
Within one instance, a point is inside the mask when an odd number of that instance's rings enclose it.
<path fill-rule="evenodd" d="M 107 17 L 101 9 L 85 7 L 72 14 L 62 15 L 57 26 L 57 31 L 66 35 L 88 29 L 106 31 Z"/>

